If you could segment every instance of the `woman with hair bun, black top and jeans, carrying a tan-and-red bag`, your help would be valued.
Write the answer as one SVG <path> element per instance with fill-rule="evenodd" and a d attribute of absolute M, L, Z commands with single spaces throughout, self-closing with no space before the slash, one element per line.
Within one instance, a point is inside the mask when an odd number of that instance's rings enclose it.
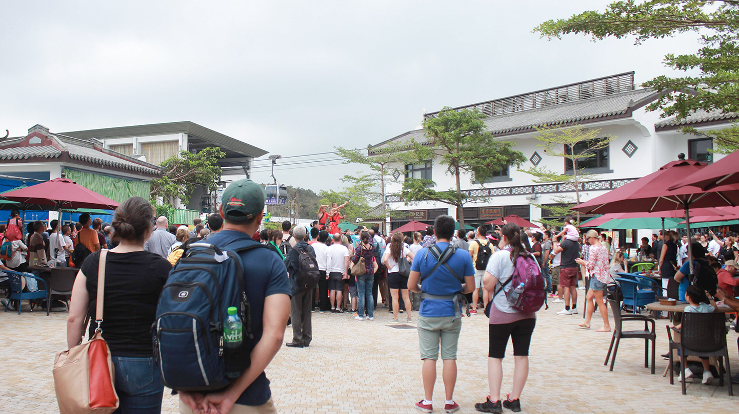
<path fill-rule="evenodd" d="M 115 390 L 120 399 L 116 413 L 160 413 L 164 386 L 154 368 L 151 324 L 157 300 L 172 266 L 143 249 L 153 230 L 154 214 L 149 201 L 131 197 L 115 209 L 112 226 L 118 246 L 106 254 L 103 303 L 103 338 L 115 365 Z M 72 288 L 67 319 L 67 346 L 82 342 L 85 314 L 92 315 L 89 336 L 95 333 L 98 294 L 98 263 L 94 252 L 82 263 Z"/>

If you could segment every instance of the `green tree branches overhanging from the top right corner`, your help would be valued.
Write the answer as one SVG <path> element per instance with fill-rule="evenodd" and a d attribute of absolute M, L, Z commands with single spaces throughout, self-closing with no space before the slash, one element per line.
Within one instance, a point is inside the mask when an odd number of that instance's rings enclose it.
<path fill-rule="evenodd" d="M 701 47 L 697 52 L 664 57 L 665 66 L 696 75 L 661 75 L 645 82 L 644 87 L 662 92 L 647 109 L 661 109 L 662 117 L 676 116 L 678 120 L 700 110 L 739 112 L 739 1 L 614 1 L 603 12 L 586 11 L 545 21 L 534 32 L 550 40 L 568 33 L 590 35 L 594 41 L 633 35 L 636 44 L 650 38 L 698 32 Z M 681 130 L 698 134 L 692 127 Z M 714 139 L 717 152 L 730 153 L 739 148 L 738 123 L 702 135 Z"/>

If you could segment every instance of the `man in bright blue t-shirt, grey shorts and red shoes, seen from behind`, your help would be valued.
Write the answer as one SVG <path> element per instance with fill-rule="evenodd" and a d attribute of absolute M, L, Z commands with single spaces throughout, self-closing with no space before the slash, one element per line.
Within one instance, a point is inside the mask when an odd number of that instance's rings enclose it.
<path fill-rule="evenodd" d="M 454 235 L 454 224 L 454 218 L 450 215 L 440 215 L 434 221 L 435 245 L 440 252 L 452 249 L 449 241 Z M 426 390 L 426 395 L 415 406 L 424 413 L 432 411 L 436 360 L 439 358 L 441 344 L 446 391 L 444 410 L 452 413 L 459 408 L 453 400 L 454 383 L 457 381 L 457 342 L 462 328 L 462 304 L 457 300 L 457 294 L 471 293 L 474 290 L 474 266 L 469 252 L 462 249 L 454 251 L 449 260 L 441 266 L 436 266 L 438 261 L 429 251 L 431 248 L 424 247 L 418 250 L 408 277 L 408 289 L 421 293 L 418 309 L 418 341 L 420 359 L 423 360 L 423 389 Z M 444 256 L 442 253 L 440 257 Z M 447 384 L 446 379 L 449 378 L 453 378 L 452 384 Z"/>

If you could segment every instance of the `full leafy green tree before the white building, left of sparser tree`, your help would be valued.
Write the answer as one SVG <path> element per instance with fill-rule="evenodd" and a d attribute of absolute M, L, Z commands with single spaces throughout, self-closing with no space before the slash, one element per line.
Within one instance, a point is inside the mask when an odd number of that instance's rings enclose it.
<path fill-rule="evenodd" d="M 432 190 L 429 187 L 435 187 L 434 182 L 408 178 L 403 183 L 402 193 L 406 202 L 432 200 L 453 205 L 457 207 L 460 225 L 464 226 L 463 207 L 471 198 L 462 193 L 461 174 L 470 173 L 474 181 L 486 182 L 500 170 L 517 167 L 526 161 L 520 151 L 513 149 L 513 142 L 493 139 L 485 129 L 483 118 L 485 115 L 477 110 L 457 111 L 447 106 L 439 111 L 437 117 L 423 122 L 430 145 L 414 145 L 416 158 L 424 159 L 428 151 L 439 155 L 441 164 L 446 165 L 447 172 L 454 176 L 455 188 Z"/>

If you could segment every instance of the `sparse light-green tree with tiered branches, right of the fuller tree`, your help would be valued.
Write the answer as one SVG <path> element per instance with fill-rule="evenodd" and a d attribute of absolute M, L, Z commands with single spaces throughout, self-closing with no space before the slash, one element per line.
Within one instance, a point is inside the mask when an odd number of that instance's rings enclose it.
<path fill-rule="evenodd" d="M 565 173 L 557 173 L 546 167 L 532 167 L 528 170 L 522 170 L 524 173 L 534 176 L 533 181 L 539 184 L 561 183 L 570 184 L 575 196 L 565 196 L 557 194 L 554 201 L 559 205 L 542 206 L 534 204 L 539 208 L 548 209 L 553 215 L 573 214 L 571 207 L 580 204 L 580 191 L 585 182 L 592 181 L 597 178 L 596 174 L 588 173 L 580 166 L 580 162 L 585 159 L 596 156 L 598 150 L 608 148 L 610 142 L 616 137 L 602 136 L 600 129 L 583 128 L 582 126 L 573 126 L 571 128 L 537 128 L 539 134 L 539 144 L 537 146 L 544 149 L 548 156 L 559 156 L 565 159 L 565 164 L 571 166 L 570 171 Z M 585 147 L 585 148 L 583 148 Z M 575 148 L 576 151 L 573 151 Z M 582 149 L 582 151 L 578 151 Z M 580 221 L 580 213 L 574 212 L 577 222 Z M 541 220 L 542 224 L 561 227 L 560 221 Z"/>

